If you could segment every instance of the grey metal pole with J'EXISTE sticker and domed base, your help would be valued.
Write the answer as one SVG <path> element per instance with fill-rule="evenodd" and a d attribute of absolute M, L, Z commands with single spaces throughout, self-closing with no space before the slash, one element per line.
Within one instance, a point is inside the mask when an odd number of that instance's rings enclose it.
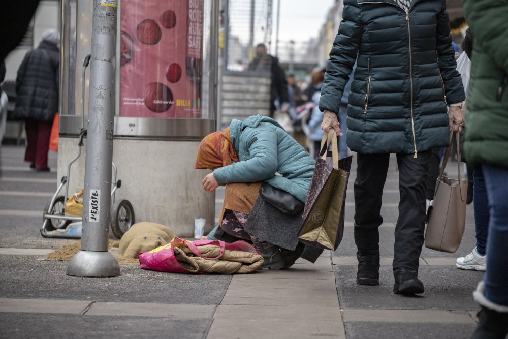
<path fill-rule="evenodd" d="M 93 2 L 90 88 L 81 251 L 68 275 L 118 276 L 120 265 L 108 252 L 115 100 L 116 6 Z"/>

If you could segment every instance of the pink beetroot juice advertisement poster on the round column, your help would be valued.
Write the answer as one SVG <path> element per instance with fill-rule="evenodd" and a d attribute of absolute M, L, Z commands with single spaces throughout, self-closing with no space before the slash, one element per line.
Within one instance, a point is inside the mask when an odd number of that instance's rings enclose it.
<path fill-rule="evenodd" d="M 122 2 L 120 116 L 201 118 L 203 0 Z"/>

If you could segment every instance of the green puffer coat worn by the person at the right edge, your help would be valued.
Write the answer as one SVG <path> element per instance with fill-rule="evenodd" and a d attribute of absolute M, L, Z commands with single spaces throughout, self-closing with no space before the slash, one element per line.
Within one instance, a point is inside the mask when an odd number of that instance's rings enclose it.
<path fill-rule="evenodd" d="M 508 168 L 508 0 L 462 3 L 474 35 L 466 159 Z"/>

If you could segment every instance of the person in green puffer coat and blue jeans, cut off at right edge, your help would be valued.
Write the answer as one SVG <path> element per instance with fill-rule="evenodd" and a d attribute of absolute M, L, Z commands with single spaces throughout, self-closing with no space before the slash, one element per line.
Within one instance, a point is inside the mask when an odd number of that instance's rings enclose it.
<path fill-rule="evenodd" d="M 467 96 L 466 160 L 482 170 L 489 200 L 487 271 L 473 338 L 508 334 L 508 0 L 463 0 L 474 43 Z"/>

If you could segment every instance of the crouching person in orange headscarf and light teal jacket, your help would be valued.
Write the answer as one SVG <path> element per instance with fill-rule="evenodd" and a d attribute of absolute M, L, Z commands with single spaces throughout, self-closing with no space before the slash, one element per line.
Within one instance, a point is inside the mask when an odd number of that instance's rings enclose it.
<path fill-rule="evenodd" d="M 291 195 L 303 207 L 315 167 L 309 153 L 274 119 L 256 115 L 244 121 L 233 120 L 224 131 L 206 136 L 199 146 L 195 167 L 213 170 L 203 179 L 205 191 L 213 192 L 220 185 L 226 185 L 214 237 L 252 241 L 265 260 L 262 268 L 291 266 L 303 248 L 297 245 L 296 238 L 301 213 L 281 215 L 275 225 L 266 225 L 287 230 L 284 236 L 294 240 L 290 242 L 297 246 L 296 250 L 292 245 L 281 250 L 281 246 L 273 243 L 277 242 L 275 238 L 270 235 L 259 238 L 256 231 L 245 225 L 255 205 L 261 203 L 258 199 L 262 199 L 259 194 L 262 182 Z M 257 220 L 268 221 L 270 216 L 260 218 L 258 215 Z"/>

